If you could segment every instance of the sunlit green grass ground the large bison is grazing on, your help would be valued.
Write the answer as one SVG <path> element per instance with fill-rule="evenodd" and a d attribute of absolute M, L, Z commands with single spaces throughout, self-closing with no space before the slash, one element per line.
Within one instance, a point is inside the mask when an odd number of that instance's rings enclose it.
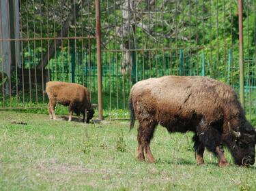
<path fill-rule="evenodd" d="M 255 165 L 238 167 L 227 151 L 229 167 L 217 167 L 209 152 L 197 166 L 192 133 L 169 135 L 158 126 L 151 144 L 157 162 L 147 164 L 135 158 L 137 131 L 127 121 L 0 112 L 0 190 L 256 190 Z"/>

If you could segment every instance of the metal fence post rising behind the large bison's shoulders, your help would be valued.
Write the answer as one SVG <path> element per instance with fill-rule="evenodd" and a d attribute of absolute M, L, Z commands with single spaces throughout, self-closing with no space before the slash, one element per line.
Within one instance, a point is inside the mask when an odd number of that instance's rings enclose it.
<path fill-rule="evenodd" d="M 242 0 L 238 0 L 239 17 L 239 71 L 240 71 L 240 101 L 244 108 L 244 42 L 242 26 Z"/>

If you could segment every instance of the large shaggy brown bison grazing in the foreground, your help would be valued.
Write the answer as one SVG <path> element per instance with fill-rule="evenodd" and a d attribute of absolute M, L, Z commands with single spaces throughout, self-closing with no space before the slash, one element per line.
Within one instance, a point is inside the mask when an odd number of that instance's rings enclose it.
<path fill-rule="evenodd" d="M 169 133 L 195 132 L 197 164 L 203 164 L 205 147 L 218 157 L 218 165 L 229 163 L 224 156 L 227 145 L 236 164 L 255 162 L 255 128 L 249 124 L 236 92 L 208 77 L 165 76 L 137 82 L 130 92 L 130 128 L 139 120 L 138 160 L 155 162 L 150 140 L 157 124 Z"/>

